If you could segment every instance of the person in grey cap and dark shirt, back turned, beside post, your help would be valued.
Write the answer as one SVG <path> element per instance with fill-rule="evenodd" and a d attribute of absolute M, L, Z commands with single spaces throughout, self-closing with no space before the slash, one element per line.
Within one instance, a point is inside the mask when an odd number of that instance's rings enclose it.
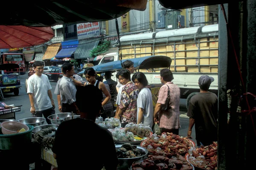
<path fill-rule="evenodd" d="M 213 77 L 201 76 L 198 79 L 200 93 L 192 96 L 189 101 L 187 113 L 187 116 L 189 116 L 189 130 L 187 135 L 192 139 L 192 127 L 195 124 L 195 139 L 199 147 L 201 144 L 204 146 L 210 145 L 212 142 L 216 142 L 218 138 L 218 97 L 208 91 L 213 81 Z"/>

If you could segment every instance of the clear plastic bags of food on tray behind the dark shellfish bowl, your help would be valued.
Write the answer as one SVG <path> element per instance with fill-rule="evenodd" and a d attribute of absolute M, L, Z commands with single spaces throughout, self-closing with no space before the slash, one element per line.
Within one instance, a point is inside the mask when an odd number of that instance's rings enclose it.
<path fill-rule="evenodd" d="M 114 142 L 138 142 L 147 139 L 151 135 L 152 129 L 143 124 L 129 123 L 124 128 L 108 129 L 113 136 Z M 140 143 L 139 143 L 140 144 Z"/>

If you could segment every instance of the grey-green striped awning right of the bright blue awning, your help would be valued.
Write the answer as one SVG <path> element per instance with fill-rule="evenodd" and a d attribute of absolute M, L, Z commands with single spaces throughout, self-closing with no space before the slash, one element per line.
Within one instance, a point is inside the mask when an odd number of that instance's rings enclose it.
<path fill-rule="evenodd" d="M 90 40 L 80 40 L 74 53 L 75 59 L 91 58 L 90 51 L 99 44 L 100 38 Z"/>

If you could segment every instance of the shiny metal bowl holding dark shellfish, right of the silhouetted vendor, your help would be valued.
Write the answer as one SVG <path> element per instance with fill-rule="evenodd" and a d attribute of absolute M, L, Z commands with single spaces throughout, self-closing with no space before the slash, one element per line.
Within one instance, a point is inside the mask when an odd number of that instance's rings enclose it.
<path fill-rule="evenodd" d="M 118 150 L 122 144 L 116 144 L 116 150 Z M 134 145 L 135 146 L 135 145 Z M 133 164 L 135 161 L 139 161 L 140 159 L 144 159 L 148 156 L 148 150 L 146 150 L 144 147 L 136 146 L 137 149 L 143 150 L 145 152 L 145 155 L 139 156 L 136 158 L 118 158 L 119 160 L 119 166 L 117 167 L 118 170 L 128 170 L 129 167 Z"/>

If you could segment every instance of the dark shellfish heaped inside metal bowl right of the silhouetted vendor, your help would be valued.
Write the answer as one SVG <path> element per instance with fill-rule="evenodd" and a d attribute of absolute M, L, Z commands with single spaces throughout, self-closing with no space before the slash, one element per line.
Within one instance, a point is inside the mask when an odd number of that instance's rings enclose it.
<path fill-rule="evenodd" d="M 117 158 L 136 158 L 143 156 L 146 153 L 143 150 L 137 149 L 136 145 L 129 143 L 123 144 L 118 150 L 116 150 Z"/>

